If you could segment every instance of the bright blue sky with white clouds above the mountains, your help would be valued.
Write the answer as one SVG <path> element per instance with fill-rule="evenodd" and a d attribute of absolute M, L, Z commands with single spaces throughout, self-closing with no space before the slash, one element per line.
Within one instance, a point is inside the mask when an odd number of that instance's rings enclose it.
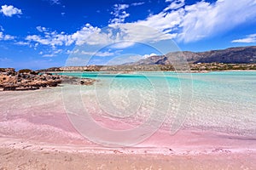
<path fill-rule="evenodd" d="M 1 0 L 0 67 L 116 65 L 256 45 L 256 0 Z"/>

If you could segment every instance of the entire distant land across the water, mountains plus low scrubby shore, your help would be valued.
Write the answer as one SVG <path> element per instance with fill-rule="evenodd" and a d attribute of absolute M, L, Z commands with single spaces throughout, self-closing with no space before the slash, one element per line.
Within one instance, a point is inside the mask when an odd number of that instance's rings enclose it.
<path fill-rule="evenodd" d="M 184 63 L 184 61 L 186 63 Z M 137 62 L 123 65 L 87 65 L 52 67 L 39 72 L 51 71 L 175 71 L 189 64 L 191 71 L 256 70 L 256 46 L 227 48 L 207 52 L 173 52 L 150 56 Z M 182 64 L 182 65 L 179 65 Z M 181 67 L 174 68 L 173 65 Z M 186 66 L 186 65 L 183 65 Z"/>

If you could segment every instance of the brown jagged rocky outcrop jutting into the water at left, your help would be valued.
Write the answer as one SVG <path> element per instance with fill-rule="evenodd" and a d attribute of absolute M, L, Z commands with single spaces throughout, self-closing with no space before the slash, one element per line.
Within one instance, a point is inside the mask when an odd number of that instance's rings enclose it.
<path fill-rule="evenodd" d="M 95 82 L 89 78 L 67 77 L 50 73 L 40 74 L 38 71 L 0 69 L 0 88 L 2 90 L 36 90 L 56 87 L 59 84 L 91 85 Z"/>

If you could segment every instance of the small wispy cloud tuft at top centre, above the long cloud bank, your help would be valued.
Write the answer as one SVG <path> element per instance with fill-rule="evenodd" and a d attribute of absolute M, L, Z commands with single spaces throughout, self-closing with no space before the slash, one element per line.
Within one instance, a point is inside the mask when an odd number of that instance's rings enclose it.
<path fill-rule="evenodd" d="M 130 16 L 130 14 L 126 13 L 125 9 L 129 8 L 128 4 L 114 4 L 113 12 L 110 14 L 113 15 L 113 19 L 109 20 L 111 24 L 119 24 L 125 21 L 125 18 Z"/>

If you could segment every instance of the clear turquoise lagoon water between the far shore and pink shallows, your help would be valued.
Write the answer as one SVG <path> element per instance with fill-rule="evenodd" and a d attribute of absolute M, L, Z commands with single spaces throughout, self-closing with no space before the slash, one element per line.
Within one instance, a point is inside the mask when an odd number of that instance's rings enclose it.
<path fill-rule="evenodd" d="M 256 71 L 65 75 L 99 80 L 81 87 L 81 94 L 100 115 L 137 121 L 153 116 L 163 127 L 256 135 Z"/>

